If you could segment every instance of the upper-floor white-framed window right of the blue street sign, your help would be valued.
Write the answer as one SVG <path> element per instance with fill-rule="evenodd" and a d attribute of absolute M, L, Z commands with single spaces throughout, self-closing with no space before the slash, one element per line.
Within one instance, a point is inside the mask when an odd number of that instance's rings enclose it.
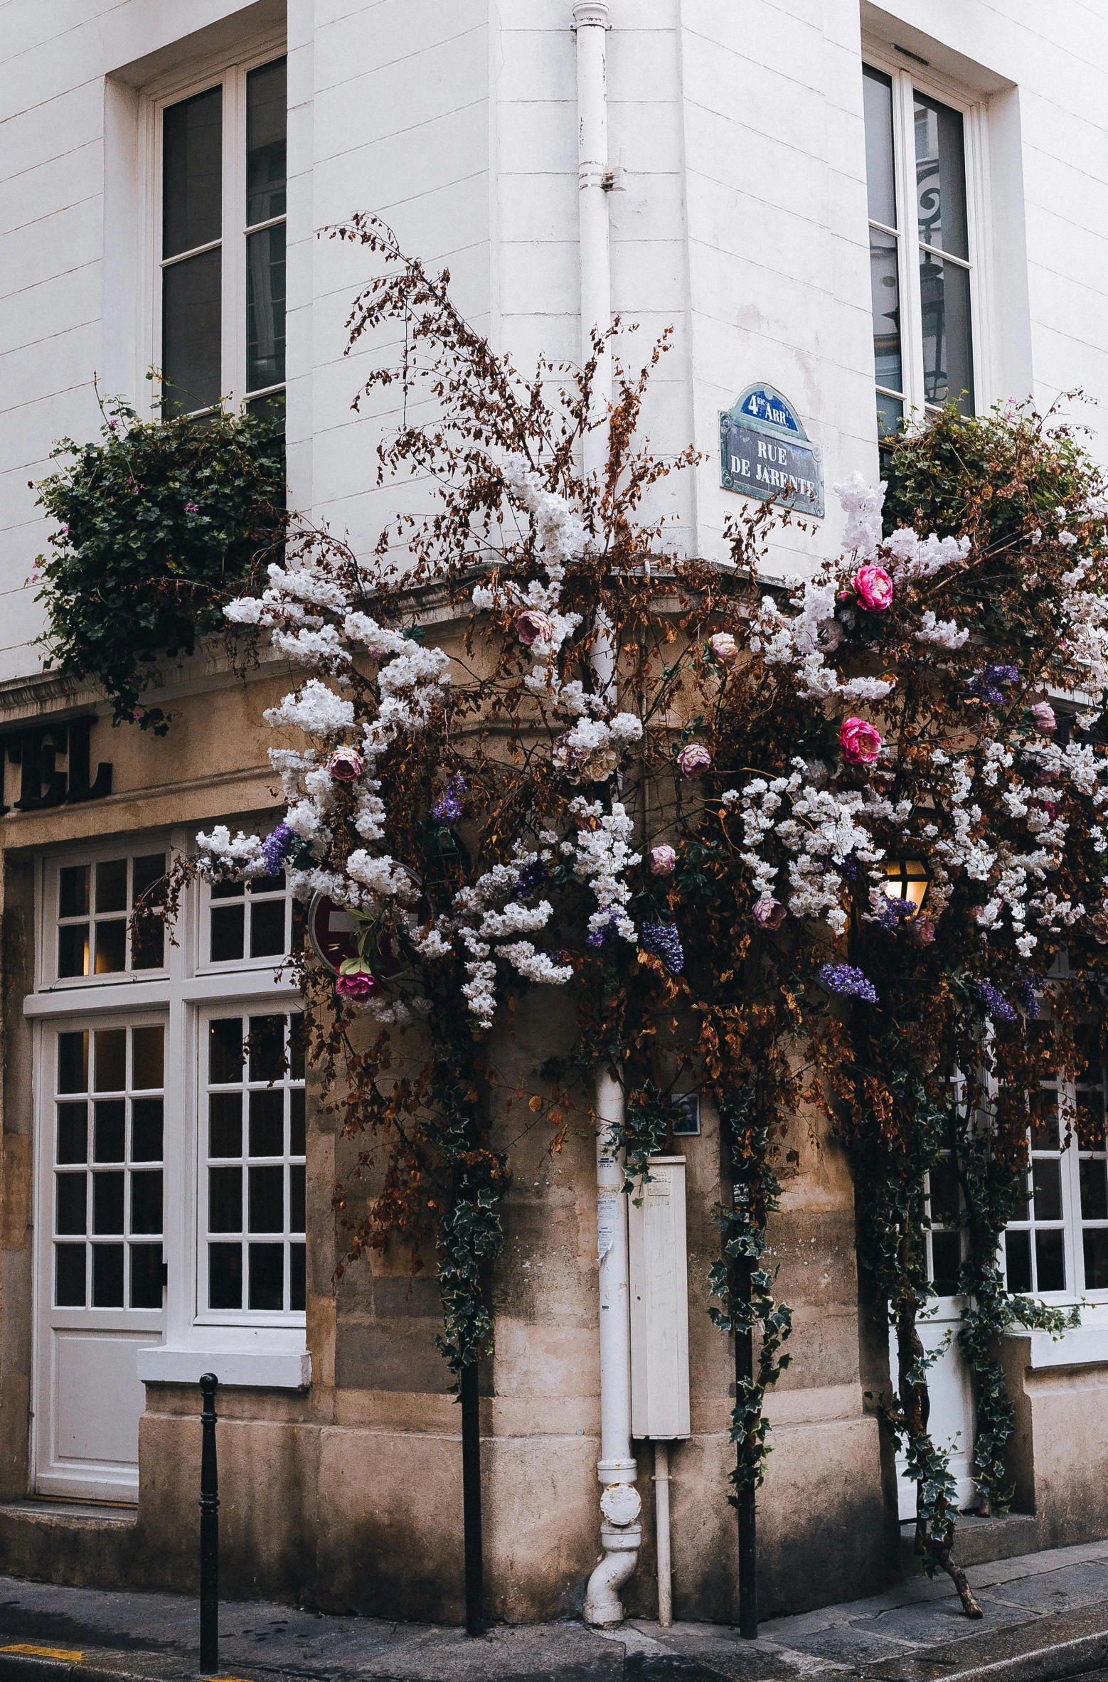
<path fill-rule="evenodd" d="M 863 91 L 881 439 L 950 400 L 967 415 L 987 402 L 985 111 L 876 52 Z"/>

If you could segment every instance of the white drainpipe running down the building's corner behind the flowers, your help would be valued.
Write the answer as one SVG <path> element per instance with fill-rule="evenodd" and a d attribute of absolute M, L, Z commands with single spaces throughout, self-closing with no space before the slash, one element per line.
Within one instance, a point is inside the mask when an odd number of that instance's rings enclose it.
<path fill-rule="evenodd" d="M 580 204 L 580 323 L 582 365 L 592 357 L 592 330 L 612 321 L 612 266 L 609 256 L 609 114 L 605 86 L 605 0 L 578 0 L 577 30 L 577 161 Z M 607 348 L 599 360 L 592 417 L 602 420 L 612 395 Z M 585 476 L 600 474 L 607 463 L 607 427 L 595 426 L 583 441 Z M 615 680 L 615 649 L 599 627 L 592 648 L 597 683 Z M 631 1457 L 631 1290 L 627 1278 L 627 1198 L 624 1171 L 612 1129 L 624 1119 L 624 1088 L 612 1070 L 597 1076 L 597 1233 L 600 1273 L 600 1544 L 604 1558 L 588 1578 L 585 1621 L 620 1623 L 619 1589 L 639 1559 L 639 1492 Z"/>

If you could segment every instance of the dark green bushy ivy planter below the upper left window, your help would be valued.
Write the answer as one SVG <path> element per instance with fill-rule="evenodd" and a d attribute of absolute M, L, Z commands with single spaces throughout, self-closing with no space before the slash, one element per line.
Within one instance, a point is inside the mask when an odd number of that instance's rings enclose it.
<path fill-rule="evenodd" d="M 45 604 L 44 668 L 101 683 L 113 723 L 165 735 L 146 706 L 161 661 L 225 634 L 224 604 L 281 543 L 284 427 L 252 414 L 140 420 L 101 402 L 101 437 L 62 439 L 62 464 L 35 488 L 57 521 L 35 582 Z"/>

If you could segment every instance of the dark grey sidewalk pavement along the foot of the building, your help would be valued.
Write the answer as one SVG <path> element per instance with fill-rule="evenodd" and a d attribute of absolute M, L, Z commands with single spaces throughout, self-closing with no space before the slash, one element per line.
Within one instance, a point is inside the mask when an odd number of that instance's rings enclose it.
<path fill-rule="evenodd" d="M 1058 1547 L 967 1573 L 985 1616 L 950 1584 L 911 1578 L 873 1600 L 762 1625 L 632 1620 L 496 1626 L 335 1618 L 235 1601 L 220 1610 L 220 1677 L 242 1682 L 1108 1682 L 1108 1542 Z M 0 1682 L 180 1682 L 197 1675 L 198 1608 L 0 1578 Z"/>

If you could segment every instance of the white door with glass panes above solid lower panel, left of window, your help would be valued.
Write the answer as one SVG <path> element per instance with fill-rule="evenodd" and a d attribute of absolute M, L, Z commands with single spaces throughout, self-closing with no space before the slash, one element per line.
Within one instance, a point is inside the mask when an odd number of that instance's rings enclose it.
<path fill-rule="evenodd" d="M 138 1351 L 163 1325 L 165 1021 L 42 1034 L 35 1482 L 135 1500 Z"/>

